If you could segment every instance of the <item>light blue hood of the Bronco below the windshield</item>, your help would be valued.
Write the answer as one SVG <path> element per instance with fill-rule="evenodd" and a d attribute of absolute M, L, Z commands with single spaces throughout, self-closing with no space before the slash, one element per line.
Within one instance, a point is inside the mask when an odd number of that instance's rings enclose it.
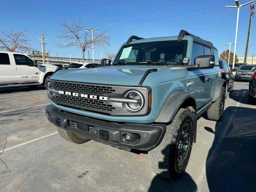
<path fill-rule="evenodd" d="M 91 69 L 59 70 L 51 79 L 71 82 L 138 86 L 148 69 L 170 70 L 167 66 L 108 66 Z"/>

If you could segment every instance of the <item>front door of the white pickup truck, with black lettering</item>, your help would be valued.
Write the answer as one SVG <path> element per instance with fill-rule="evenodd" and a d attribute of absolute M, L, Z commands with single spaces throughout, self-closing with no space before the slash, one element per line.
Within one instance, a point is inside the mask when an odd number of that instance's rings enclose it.
<path fill-rule="evenodd" d="M 34 66 L 34 61 L 22 54 L 13 54 L 13 56 L 15 61 L 15 83 L 39 82 L 41 71 Z"/>

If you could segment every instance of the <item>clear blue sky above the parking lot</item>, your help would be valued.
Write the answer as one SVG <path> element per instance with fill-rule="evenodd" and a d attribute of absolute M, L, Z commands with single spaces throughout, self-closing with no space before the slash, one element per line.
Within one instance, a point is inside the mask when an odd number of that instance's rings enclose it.
<path fill-rule="evenodd" d="M 240 0 L 240 4 L 248 0 Z M 220 5 L 220 6 L 218 6 Z M 63 42 L 56 38 L 60 34 L 59 21 L 82 20 L 88 28 L 107 30 L 111 37 L 110 52 L 117 52 L 120 45 L 131 35 L 143 38 L 177 36 L 181 29 L 210 40 L 218 48 L 219 54 L 228 49 L 222 43 L 234 42 L 236 8 L 234 0 L 2 0 L 1 30 L 28 29 L 28 37 L 33 48 L 40 50 L 41 29 L 44 26 L 46 50 L 51 56 L 81 58 L 78 48 L 58 48 Z M 250 6 L 240 9 L 238 28 L 238 56 L 244 56 Z M 252 22 L 249 56 L 256 55 L 256 21 Z M 234 48 L 232 47 L 231 50 Z M 87 52 L 88 50 L 86 50 Z M 89 50 L 91 52 L 91 50 Z M 95 49 L 95 58 L 100 58 L 102 48 Z M 88 58 L 88 53 L 86 54 Z M 92 58 L 92 54 L 91 54 Z"/>

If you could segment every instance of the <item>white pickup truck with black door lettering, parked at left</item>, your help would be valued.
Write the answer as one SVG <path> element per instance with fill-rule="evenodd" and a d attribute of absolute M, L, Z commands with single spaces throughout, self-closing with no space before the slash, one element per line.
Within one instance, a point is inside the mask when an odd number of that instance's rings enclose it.
<path fill-rule="evenodd" d="M 58 67 L 38 65 L 22 53 L 0 51 L 0 88 L 10 86 L 34 87 L 43 84 Z"/>

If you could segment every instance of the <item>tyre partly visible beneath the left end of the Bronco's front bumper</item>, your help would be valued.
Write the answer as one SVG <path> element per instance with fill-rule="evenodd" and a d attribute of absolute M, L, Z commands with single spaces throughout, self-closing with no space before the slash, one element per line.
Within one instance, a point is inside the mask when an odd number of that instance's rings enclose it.
<path fill-rule="evenodd" d="M 64 138 L 67 141 L 70 141 L 72 143 L 82 144 L 82 143 L 85 143 L 90 140 L 88 138 L 78 136 L 78 135 L 76 135 L 70 131 L 67 131 L 65 129 L 62 129 L 62 128 L 58 128 L 58 132 L 59 132 L 60 136 L 62 136 L 62 138 Z"/>

